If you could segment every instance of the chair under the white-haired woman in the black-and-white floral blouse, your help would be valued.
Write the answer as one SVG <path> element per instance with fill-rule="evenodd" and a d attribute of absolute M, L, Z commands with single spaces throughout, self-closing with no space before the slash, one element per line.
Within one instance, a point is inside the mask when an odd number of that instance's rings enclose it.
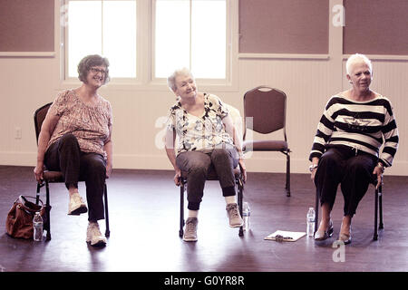
<path fill-rule="evenodd" d="M 239 138 L 241 138 L 241 127 L 242 127 L 242 120 L 241 120 L 241 116 L 239 114 L 239 111 L 228 105 L 225 104 L 228 107 L 228 111 L 230 116 L 232 117 L 232 121 L 234 122 L 235 128 L 238 131 L 238 136 Z M 244 182 L 243 182 L 243 177 L 242 177 L 242 173 L 239 169 L 239 165 L 236 169 L 234 169 L 234 176 L 235 176 L 235 185 L 236 185 L 236 189 L 237 189 L 237 201 L 238 201 L 238 210 L 239 210 L 239 214 L 242 217 L 242 205 L 243 205 L 243 192 L 244 192 Z M 210 167 L 209 169 L 209 174 L 207 176 L 207 180 L 219 180 L 219 177 L 217 176 L 217 171 L 214 169 L 213 166 Z M 183 237 L 184 234 L 184 224 L 185 224 L 185 220 L 184 220 L 184 196 L 187 190 L 187 186 L 188 186 L 188 179 L 187 179 L 187 172 L 182 171 L 181 172 L 181 178 L 180 178 L 180 230 L 179 230 L 179 236 Z M 244 236 L 244 229 L 243 227 L 239 227 L 239 232 L 238 232 L 238 236 L 242 237 Z"/>

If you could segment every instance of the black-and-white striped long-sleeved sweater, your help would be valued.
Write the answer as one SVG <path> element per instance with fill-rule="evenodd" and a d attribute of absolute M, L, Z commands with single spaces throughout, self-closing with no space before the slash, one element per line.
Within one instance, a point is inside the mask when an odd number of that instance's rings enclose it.
<path fill-rule="evenodd" d="M 391 166 L 398 148 L 398 129 L 391 102 L 382 95 L 366 102 L 333 96 L 317 125 L 309 160 L 320 158 L 327 144 L 363 150 L 378 157 L 384 166 Z"/>

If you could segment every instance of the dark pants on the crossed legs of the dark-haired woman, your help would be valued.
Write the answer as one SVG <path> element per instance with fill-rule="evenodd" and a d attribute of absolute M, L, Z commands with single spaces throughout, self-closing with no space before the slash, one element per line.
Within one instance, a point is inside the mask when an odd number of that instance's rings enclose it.
<path fill-rule="evenodd" d="M 88 220 L 104 218 L 103 190 L 106 179 L 106 161 L 98 153 L 81 151 L 73 134 L 65 134 L 45 152 L 44 164 L 48 170 L 63 172 L 65 186 L 78 188 L 85 181 L 88 202 Z"/>

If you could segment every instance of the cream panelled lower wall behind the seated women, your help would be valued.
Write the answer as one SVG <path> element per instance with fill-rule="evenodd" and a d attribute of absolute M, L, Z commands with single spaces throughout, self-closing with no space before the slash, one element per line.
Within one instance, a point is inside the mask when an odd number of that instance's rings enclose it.
<path fill-rule="evenodd" d="M 331 0 L 331 4 L 335 1 Z M 238 23 L 238 22 L 237 22 Z M 59 32 L 56 29 L 56 40 Z M 55 43 L 57 47 L 58 42 Z M 291 55 L 246 55 L 238 57 L 234 74 L 235 89 L 200 91 L 218 94 L 225 102 L 243 112 L 242 98 L 246 91 L 267 84 L 287 92 L 287 137 L 293 153 L 292 172 L 305 173 L 316 124 L 330 95 L 348 87 L 342 54 L 342 29 L 331 27 L 329 53 L 322 58 Z M 1 55 L 1 54 L 0 54 Z M 392 58 L 392 57 L 391 57 Z M 400 131 L 400 148 L 393 168 L 387 174 L 407 175 L 408 172 L 408 58 L 373 57 L 372 88 L 393 102 Z M 34 110 L 52 102 L 56 93 L 79 85 L 60 81 L 60 53 L 50 57 L 0 57 L 0 164 L 34 166 L 36 142 Z M 156 146 L 161 128 L 155 123 L 165 116 L 173 96 L 165 85 L 120 87 L 112 83 L 102 88 L 102 95 L 112 103 L 114 114 L 113 148 L 116 169 L 171 169 L 164 150 Z M 22 138 L 15 139 L 15 129 L 21 128 Z M 247 160 L 249 171 L 284 172 L 284 156 L 280 153 L 256 153 Z"/>

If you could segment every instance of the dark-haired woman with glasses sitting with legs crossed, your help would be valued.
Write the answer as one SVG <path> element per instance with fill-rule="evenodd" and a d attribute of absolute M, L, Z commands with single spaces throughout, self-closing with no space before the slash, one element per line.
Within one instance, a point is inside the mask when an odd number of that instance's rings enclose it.
<path fill-rule="evenodd" d="M 82 85 L 60 92 L 53 101 L 38 138 L 35 179 L 41 182 L 44 167 L 63 172 L 69 192 L 68 215 L 88 211 L 86 241 L 105 246 L 98 220 L 104 218 L 103 189 L 112 173 L 112 107 L 98 89 L 109 82 L 109 62 L 88 55 L 78 64 Z M 78 192 L 85 180 L 88 207 Z M 89 209 L 89 210 L 88 210 Z"/>

